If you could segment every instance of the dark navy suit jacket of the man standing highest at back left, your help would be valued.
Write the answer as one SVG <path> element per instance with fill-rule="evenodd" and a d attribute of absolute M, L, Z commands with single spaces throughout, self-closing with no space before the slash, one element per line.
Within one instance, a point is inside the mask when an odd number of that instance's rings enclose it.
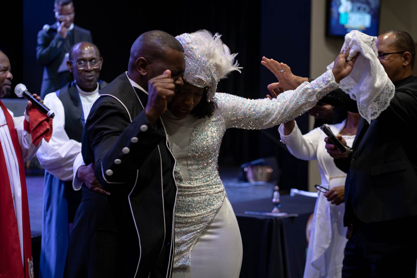
<path fill-rule="evenodd" d="M 58 25 L 54 23 L 45 27 L 38 33 L 38 45 L 36 46 L 36 59 L 44 66 L 42 86 L 40 89 L 41 98 L 55 92 L 65 84 L 71 82 L 73 75 L 67 70 L 58 73 L 65 53 L 69 52 L 76 43 L 83 41 L 93 42 L 90 31 L 74 25 L 67 38 L 63 39 L 57 34 Z"/>

